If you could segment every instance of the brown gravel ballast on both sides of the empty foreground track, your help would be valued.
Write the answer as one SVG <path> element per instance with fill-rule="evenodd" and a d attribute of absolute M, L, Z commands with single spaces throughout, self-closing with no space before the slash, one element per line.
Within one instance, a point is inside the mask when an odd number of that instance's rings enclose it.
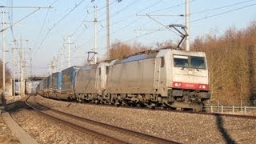
<path fill-rule="evenodd" d="M 182 143 L 256 142 L 255 119 L 60 102 L 39 96 L 36 100 L 66 113 Z M 48 122 L 49 119 L 28 110 L 16 110 L 11 115 L 39 143 L 98 143 L 94 138 L 87 138 L 60 123 Z"/>

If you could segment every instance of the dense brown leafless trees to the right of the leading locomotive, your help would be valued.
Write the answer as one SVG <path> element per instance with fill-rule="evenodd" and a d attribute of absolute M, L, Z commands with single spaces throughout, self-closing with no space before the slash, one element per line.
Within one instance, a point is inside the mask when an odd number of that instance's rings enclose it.
<path fill-rule="evenodd" d="M 212 102 L 256 106 L 256 21 L 244 29 L 196 38 L 193 50 L 206 52 Z"/>

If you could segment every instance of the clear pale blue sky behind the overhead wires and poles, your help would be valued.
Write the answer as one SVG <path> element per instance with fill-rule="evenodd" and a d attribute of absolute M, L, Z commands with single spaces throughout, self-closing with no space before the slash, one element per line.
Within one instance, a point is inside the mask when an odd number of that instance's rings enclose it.
<path fill-rule="evenodd" d="M 166 40 L 178 41 L 178 36 L 162 25 L 184 24 L 183 17 L 153 16 L 158 22 L 136 14 L 168 15 L 184 14 L 186 0 L 110 0 L 110 42 L 141 42 L 154 45 Z M 0 6 L 10 6 L 10 0 L 2 0 Z M 33 50 L 33 73 L 46 74 L 47 63 L 54 57 L 58 59 L 62 47 L 67 49 L 67 36 L 71 35 L 71 65 L 82 65 L 86 52 L 94 46 L 94 13 L 92 6 L 98 6 L 98 53 L 106 53 L 106 1 L 95 0 L 13 0 L 13 6 L 51 6 L 52 9 L 40 9 L 22 22 L 14 25 L 14 38 L 27 39 L 22 46 Z M 190 1 L 190 38 L 208 33 L 223 34 L 226 29 L 235 26 L 245 28 L 256 19 L 256 0 L 191 0 Z M 1 9 L 13 15 L 6 16 L 7 25 L 17 22 L 36 9 Z M 214 16 L 215 15 L 215 16 Z M 1 17 L 2 20 L 2 17 Z M 10 26 L 10 24 L 9 24 Z M 2 29 L 2 28 L 1 28 Z M 161 31 L 159 31 L 161 29 Z M 135 31 L 134 31 L 135 30 Z M 146 31 L 152 30 L 152 31 Z M 151 34 L 148 34 L 152 32 Z M 154 33 L 153 33 L 154 32 Z M 144 35 L 144 36 L 142 36 Z M 141 37 L 142 36 L 142 37 Z M 1 38 L 2 39 L 2 38 Z M 13 36 L 6 30 L 6 49 L 10 50 Z M 27 55 L 29 56 L 29 55 Z M 12 68 L 11 53 L 7 53 L 8 67 Z M 67 52 L 65 58 L 67 57 Z M 2 54 L 1 54 L 2 58 Z M 29 58 L 26 58 L 29 63 Z M 64 62 L 64 68 L 67 63 Z"/>

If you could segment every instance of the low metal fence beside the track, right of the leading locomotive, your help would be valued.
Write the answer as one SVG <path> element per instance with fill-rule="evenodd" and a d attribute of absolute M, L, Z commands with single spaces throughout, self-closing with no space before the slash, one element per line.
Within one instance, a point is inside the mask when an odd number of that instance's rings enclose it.
<path fill-rule="evenodd" d="M 205 106 L 205 108 L 210 113 L 247 114 L 248 112 L 254 112 L 256 115 L 256 106 Z"/>

